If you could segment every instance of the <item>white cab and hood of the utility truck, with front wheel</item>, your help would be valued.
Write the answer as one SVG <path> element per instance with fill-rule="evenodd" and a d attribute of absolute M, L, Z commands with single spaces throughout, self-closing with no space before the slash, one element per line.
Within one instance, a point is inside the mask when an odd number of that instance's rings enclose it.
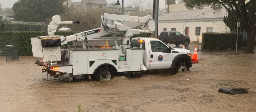
<path fill-rule="evenodd" d="M 143 65 L 147 70 L 172 69 L 175 74 L 188 71 L 192 67 L 189 50 L 171 48 L 154 38 L 132 38 L 130 47 L 138 47 L 138 40 L 143 41 Z"/>

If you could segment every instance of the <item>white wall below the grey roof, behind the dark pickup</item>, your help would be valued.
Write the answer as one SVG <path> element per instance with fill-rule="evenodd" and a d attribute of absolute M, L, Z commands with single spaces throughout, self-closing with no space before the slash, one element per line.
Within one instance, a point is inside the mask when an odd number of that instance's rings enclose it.
<path fill-rule="evenodd" d="M 173 23 L 172 23 L 173 22 Z M 159 21 L 158 25 L 158 35 L 163 31 L 163 28 L 167 28 L 167 31 L 171 31 L 171 28 L 176 28 L 176 31 L 181 34 L 185 34 L 185 27 L 189 27 L 189 37 L 191 41 L 197 41 L 197 37 L 195 35 L 195 27 L 201 27 L 201 35 L 206 32 L 207 27 L 212 27 L 213 32 L 230 31 L 230 29 L 225 25 L 223 21 L 220 20 L 193 20 L 193 22 L 182 22 L 182 20 L 178 21 Z M 202 37 L 201 37 L 202 38 Z M 202 40 L 199 39 L 201 43 Z"/>

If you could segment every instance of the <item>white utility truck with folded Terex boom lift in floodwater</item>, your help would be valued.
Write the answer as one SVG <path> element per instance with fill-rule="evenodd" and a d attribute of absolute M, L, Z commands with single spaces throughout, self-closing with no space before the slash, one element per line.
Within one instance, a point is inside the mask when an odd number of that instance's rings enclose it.
<path fill-rule="evenodd" d="M 188 71 L 192 67 L 189 50 L 171 48 L 155 38 L 141 37 L 130 40 L 134 34 L 154 32 L 155 20 L 151 16 L 103 13 L 101 28 L 67 37 L 54 36 L 60 24 L 73 23 L 79 22 L 61 22 L 60 16 L 53 16 L 47 27 L 48 36 L 31 38 L 33 56 L 42 58 L 35 64 L 43 66 L 42 72 L 47 72 L 54 78 L 70 73 L 68 80 L 73 81 L 74 75 L 86 74 L 89 79 L 99 81 L 110 80 L 118 72 L 138 73 L 169 69 L 175 74 Z M 108 34 L 112 34 L 115 45 L 106 45 L 104 48 L 86 46 L 89 40 Z M 117 34 L 121 36 L 121 45 L 117 44 Z M 62 45 L 72 41 L 81 42 L 82 47 L 62 48 Z M 67 55 L 63 55 L 63 52 Z"/>

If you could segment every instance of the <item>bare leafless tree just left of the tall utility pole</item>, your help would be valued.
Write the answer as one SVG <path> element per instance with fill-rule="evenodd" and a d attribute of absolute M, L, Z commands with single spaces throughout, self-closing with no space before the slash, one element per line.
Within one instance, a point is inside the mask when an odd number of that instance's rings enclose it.
<path fill-rule="evenodd" d="M 135 7 L 135 15 L 136 16 L 141 16 L 142 15 L 142 10 L 143 10 L 143 3 L 145 0 L 130 0 L 131 6 Z"/>

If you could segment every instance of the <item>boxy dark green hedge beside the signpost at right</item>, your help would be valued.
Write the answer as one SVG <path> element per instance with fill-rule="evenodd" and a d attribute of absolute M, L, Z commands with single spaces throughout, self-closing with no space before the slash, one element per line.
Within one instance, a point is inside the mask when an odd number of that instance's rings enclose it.
<path fill-rule="evenodd" d="M 202 50 L 236 49 L 236 33 L 203 33 Z M 238 34 L 237 49 L 241 49 L 243 35 Z"/>

